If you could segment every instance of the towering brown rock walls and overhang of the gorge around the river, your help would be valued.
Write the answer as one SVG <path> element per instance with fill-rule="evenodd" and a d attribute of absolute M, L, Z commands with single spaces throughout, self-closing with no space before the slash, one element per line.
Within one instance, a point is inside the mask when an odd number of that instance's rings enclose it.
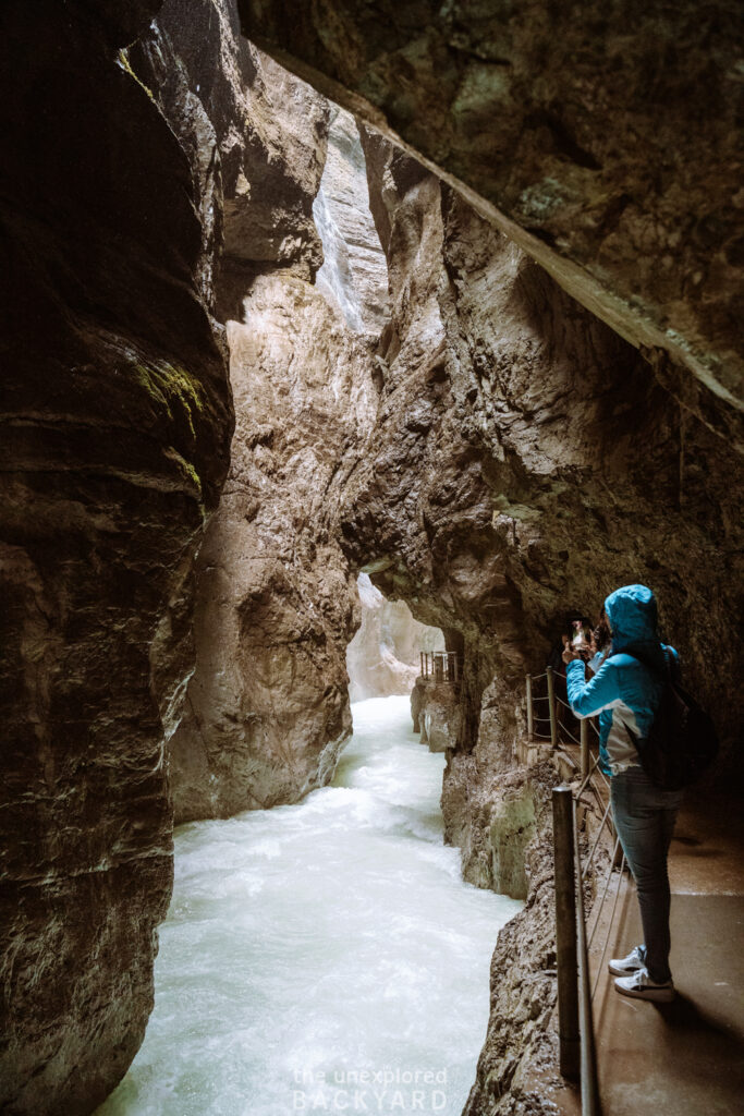
<path fill-rule="evenodd" d="M 470 1116 L 550 1110 L 566 615 L 653 585 L 741 787 L 741 12 L 589 7 L 3 6 L 0 1110 L 126 1074 L 174 821 L 331 781 L 358 577 L 460 656 L 444 838 L 525 899 Z"/>

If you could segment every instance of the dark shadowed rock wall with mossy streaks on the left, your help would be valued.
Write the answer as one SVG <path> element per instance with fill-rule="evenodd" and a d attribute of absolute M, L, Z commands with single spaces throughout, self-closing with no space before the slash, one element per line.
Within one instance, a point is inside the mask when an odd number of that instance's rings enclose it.
<path fill-rule="evenodd" d="M 0 1108 L 33 1116 L 95 1108 L 145 1030 L 163 744 L 232 432 L 201 199 L 117 54 L 157 8 L 0 15 Z"/>

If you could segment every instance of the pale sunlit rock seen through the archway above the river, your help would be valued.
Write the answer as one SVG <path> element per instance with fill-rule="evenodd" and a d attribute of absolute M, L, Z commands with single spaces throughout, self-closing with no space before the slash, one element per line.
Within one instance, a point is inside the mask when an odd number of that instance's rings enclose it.
<path fill-rule="evenodd" d="M 414 619 L 405 600 L 386 600 L 367 574 L 359 575 L 357 587 L 361 624 L 346 652 L 349 700 L 408 694 L 421 652 L 444 651 L 444 636 Z"/>

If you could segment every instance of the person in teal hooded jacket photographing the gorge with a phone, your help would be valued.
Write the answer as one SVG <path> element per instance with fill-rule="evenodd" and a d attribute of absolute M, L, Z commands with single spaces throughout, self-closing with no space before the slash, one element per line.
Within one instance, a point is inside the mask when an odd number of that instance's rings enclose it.
<path fill-rule="evenodd" d="M 678 670 L 677 652 L 657 633 L 656 599 L 645 585 L 626 585 L 605 602 L 611 651 L 586 681 L 584 662 L 563 652 L 569 704 L 577 716 L 599 713 L 600 767 L 610 778 L 615 828 L 638 888 L 645 944 L 610 961 L 624 995 L 666 1002 L 674 999 L 669 970 L 669 877 L 667 854 L 683 792 L 660 790 L 640 766 L 634 735 L 648 734 L 659 705 L 667 658 Z M 636 657 L 636 655 L 638 657 Z M 642 662 L 641 662 L 642 660 Z M 630 730 L 630 731 L 628 731 Z"/>

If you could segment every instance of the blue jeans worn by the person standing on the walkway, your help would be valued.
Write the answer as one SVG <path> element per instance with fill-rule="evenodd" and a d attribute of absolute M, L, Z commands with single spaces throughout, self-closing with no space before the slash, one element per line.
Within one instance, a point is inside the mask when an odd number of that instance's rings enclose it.
<path fill-rule="evenodd" d="M 683 797 L 682 790 L 659 790 L 640 767 L 610 780 L 615 828 L 638 889 L 646 968 L 657 984 L 671 980 L 667 853 Z"/>

